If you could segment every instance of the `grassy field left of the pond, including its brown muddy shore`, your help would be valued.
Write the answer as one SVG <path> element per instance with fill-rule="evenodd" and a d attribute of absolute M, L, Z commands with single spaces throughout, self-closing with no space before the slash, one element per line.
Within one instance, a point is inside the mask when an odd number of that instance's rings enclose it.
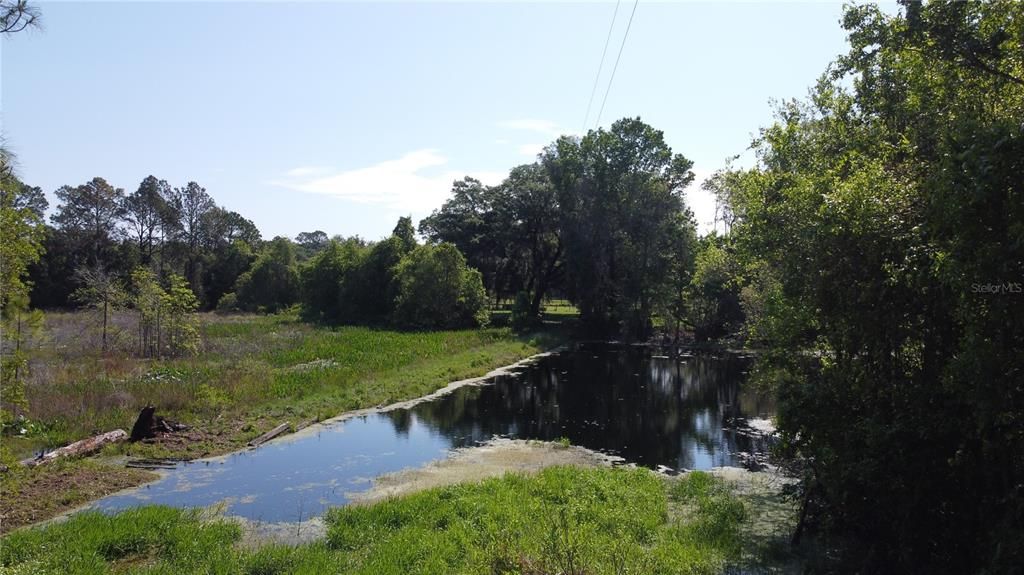
<path fill-rule="evenodd" d="M 281 423 L 301 426 L 415 398 L 561 341 L 552 330 L 530 336 L 507 328 L 401 333 L 314 326 L 294 314 L 206 314 L 197 356 L 143 359 L 132 353 L 132 316 L 118 316 L 114 325 L 108 353 L 97 351 L 95 320 L 85 313 L 48 314 L 45 328 L 29 342 L 27 418 L 6 431 L 0 449 L 11 468 L 0 474 L 0 530 L 123 487 L 123 468 L 110 468 L 104 475 L 69 463 L 61 481 L 92 497 L 56 504 L 59 492 L 47 497 L 40 487 L 52 483 L 51 472 L 14 461 L 113 429 L 130 430 L 146 404 L 191 429 L 104 454 L 194 458 L 224 453 Z M 74 481 L 77 472 L 82 484 Z M 145 476 L 132 477 L 137 483 Z"/>

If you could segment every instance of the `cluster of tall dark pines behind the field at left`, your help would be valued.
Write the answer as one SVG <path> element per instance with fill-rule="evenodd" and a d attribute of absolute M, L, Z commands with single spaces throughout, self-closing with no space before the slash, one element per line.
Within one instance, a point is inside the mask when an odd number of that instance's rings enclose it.
<path fill-rule="evenodd" d="M 101 270 L 125 282 L 143 266 L 164 283 L 171 273 L 183 276 L 200 307 L 212 309 L 262 247 L 251 221 L 217 206 L 196 182 L 175 188 L 147 176 L 126 195 L 103 178 L 93 178 L 54 193 L 59 204 L 52 225 L 44 226 L 46 255 L 29 269 L 37 307 L 74 305 L 73 295 L 82 286 L 74 278 L 82 269 Z"/>

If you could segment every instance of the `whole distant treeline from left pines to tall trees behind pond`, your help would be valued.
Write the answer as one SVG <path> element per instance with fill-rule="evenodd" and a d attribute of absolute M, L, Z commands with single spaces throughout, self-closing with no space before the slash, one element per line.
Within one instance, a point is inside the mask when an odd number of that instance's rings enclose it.
<path fill-rule="evenodd" d="M 17 276 L 37 308 L 82 305 L 86 277 L 137 291 L 130 278 L 141 268 L 163 285 L 183 277 L 203 310 L 299 304 L 329 323 L 453 327 L 484 322 L 488 298 L 512 299 L 513 321 L 525 326 L 558 294 L 591 334 L 644 338 L 662 317 L 676 333 L 720 336 L 741 315 L 718 304 L 720 285 L 692 283 L 717 277 L 701 272 L 698 252 L 719 240 L 696 238 L 682 193 L 691 166 L 640 120 L 559 138 L 499 185 L 455 182 L 420 222 L 425 246 L 409 218 L 375 242 L 321 230 L 264 241 L 198 183 L 155 176 L 127 194 L 102 178 L 62 186 L 48 223 L 40 188 L 11 174 L 4 193 L 33 231 L 25 241 L 38 257 L 23 258 Z"/>

